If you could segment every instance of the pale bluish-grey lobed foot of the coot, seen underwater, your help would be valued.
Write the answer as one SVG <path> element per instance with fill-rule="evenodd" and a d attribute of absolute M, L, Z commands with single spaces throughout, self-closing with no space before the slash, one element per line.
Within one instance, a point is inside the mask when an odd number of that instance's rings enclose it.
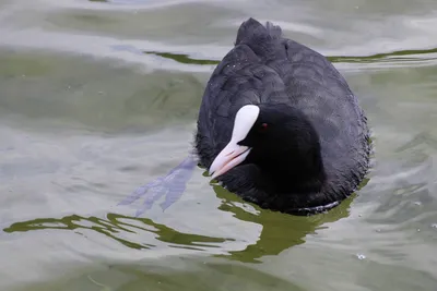
<path fill-rule="evenodd" d="M 152 208 L 153 204 L 165 195 L 165 201 L 160 204 L 163 211 L 177 202 L 184 194 L 187 182 L 191 178 L 197 160 L 193 155 L 189 155 L 178 166 L 173 168 L 166 175 L 160 177 L 145 185 L 138 187 L 132 194 L 121 201 L 118 205 L 132 204 L 145 194 L 143 206 L 137 210 L 139 217 L 145 210 Z"/>

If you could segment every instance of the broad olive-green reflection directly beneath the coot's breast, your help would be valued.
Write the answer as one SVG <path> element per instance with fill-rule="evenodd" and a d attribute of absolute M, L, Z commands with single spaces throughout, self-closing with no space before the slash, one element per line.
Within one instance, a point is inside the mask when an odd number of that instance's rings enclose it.
<path fill-rule="evenodd" d="M 326 214 L 315 216 L 292 216 L 261 209 L 252 205 L 258 214 L 246 211 L 236 203 L 245 203 L 238 196 L 224 190 L 221 186 L 214 186 L 216 196 L 222 199 L 218 207 L 223 211 L 234 214 L 239 220 L 253 222 L 262 226 L 259 240 L 255 244 L 248 245 L 243 251 L 229 252 L 228 255 L 217 255 L 243 263 L 261 263 L 263 256 L 279 255 L 281 252 L 305 243 L 305 237 L 317 233 L 317 230 L 326 229 L 323 226 L 328 222 L 334 222 L 350 215 L 351 203 L 356 194 L 351 195 L 339 206 Z"/>

